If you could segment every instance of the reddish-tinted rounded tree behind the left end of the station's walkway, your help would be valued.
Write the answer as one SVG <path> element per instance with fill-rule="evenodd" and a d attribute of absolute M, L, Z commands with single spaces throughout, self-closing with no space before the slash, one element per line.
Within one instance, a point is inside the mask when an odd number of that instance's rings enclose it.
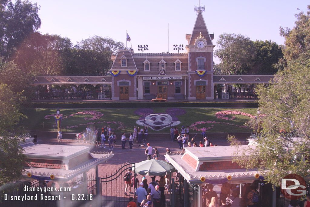
<path fill-rule="evenodd" d="M 15 53 L 15 62 L 24 71 L 36 75 L 58 75 L 63 72 L 72 43 L 59 35 L 31 34 Z"/>

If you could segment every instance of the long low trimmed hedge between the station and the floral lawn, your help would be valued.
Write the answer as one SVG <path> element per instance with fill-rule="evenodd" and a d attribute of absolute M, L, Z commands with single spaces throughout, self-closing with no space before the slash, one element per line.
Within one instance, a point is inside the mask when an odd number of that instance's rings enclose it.
<path fill-rule="evenodd" d="M 83 108 L 258 108 L 258 102 L 34 102 L 37 109 L 83 109 Z"/>

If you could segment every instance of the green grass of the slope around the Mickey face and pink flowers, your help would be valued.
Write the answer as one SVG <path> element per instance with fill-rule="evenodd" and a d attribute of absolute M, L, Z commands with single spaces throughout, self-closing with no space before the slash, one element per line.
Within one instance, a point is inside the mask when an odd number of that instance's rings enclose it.
<path fill-rule="evenodd" d="M 91 109 L 87 109 L 91 110 Z M 121 109 L 94 109 L 94 111 L 100 112 L 104 114 L 99 119 L 96 120 L 85 120 L 85 117 L 92 118 L 92 115 L 74 115 L 72 117 L 68 117 L 66 119 L 63 119 L 61 122 L 61 128 L 64 132 L 81 132 L 86 128 L 86 125 L 78 126 L 80 124 L 87 124 L 87 123 L 95 123 L 95 124 L 89 124 L 90 126 L 95 127 L 102 127 L 103 125 L 110 125 L 111 128 L 119 128 L 117 130 L 114 130 L 116 132 L 125 132 L 129 133 L 132 132 L 132 129 L 135 125 L 139 127 L 138 124 L 136 124 L 136 121 L 142 116 L 142 115 L 136 115 L 134 112 L 137 109 L 127 109 L 127 108 L 121 108 Z M 166 108 L 155 108 L 153 109 L 154 113 L 165 113 Z M 180 124 L 176 125 L 179 129 L 182 127 L 182 125 L 191 125 L 198 121 L 216 121 L 216 122 L 222 122 L 222 123 L 229 123 L 229 124 L 235 124 L 242 126 L 244 125 L 248 120 L 250 120 L 250 117 L 243 116 L 243 115 L 234 115 L 236 119 L 234 120 L 223 120 L 218 119 L 215 117 L 215 113 L 221 110 L 237 110 L 241 112 L 245 112 L 251 115 L 255 115 L 257 113 L 257 109 L 220 109 L 220 108 L 183 108 L 183 110 L 186 111 L 186 114 L 184 115 L 178 115 L 175 116 L 179 121 Z M 78 112 L 86 111 L 85 109 L 63 109 L 60 111 L 63 116 L 69 116 L 72 114 L 76 114 Z M 45 119 L 44 117 L 46 115 L 52 115 L 55 114 L 55 109 L 29 109 L 28 119 L 24 120 L 22 125 L 27 127 L 30 130 L 42 130 L 42 131 L 53 131 L 55 130 L 55 119 L 53 116 L 49 117 L 50 119 Z M 232 115 L 228 115 L 229 118 L 232 117 Z M 100 122 L 100 124 L 97 124 Z M 103 124 L 101 122 L 104 122 Z M 120 124 L 114 124 L 114 123 L 106 123 L 106 122 L 122 122 L 123 128 L 120 128 Z M 53 126 L 54 125 L 54 126 Z M 212 124 L 199 124 L 197 125 L 197 128 L 202 127 L 211 127 Z M 227 124 L 213 124 L 214 127 L 207 132 L 209 133 L 228 133 L 228 132 L 251 132 L 248 128 L 241 128 L 233 125 L 227 125 Z M 74 128 L 70 128 L 71 126 L 78 126 Z M 68 129 L 67 129 L 68 128 Z M 159 131 L 154 131 L 149 128 L 150 133 L 169 133 L 170 127 L 163 128 Z M 194 129 L 190 131 L 191 133 L 196 132 Z"/>

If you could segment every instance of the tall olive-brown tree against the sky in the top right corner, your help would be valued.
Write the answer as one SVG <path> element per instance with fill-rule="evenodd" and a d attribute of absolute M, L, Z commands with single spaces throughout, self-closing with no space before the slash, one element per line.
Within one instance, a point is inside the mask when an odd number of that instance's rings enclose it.
<path fill-rule="evenodd" d="M 284 58 L 294 64 L 299 59 L 303 64 L 310 58 L 310 5 L 307 14 L 296 14 L 293 29 L 280 27 L 280 35 L 285 38 Z"/>

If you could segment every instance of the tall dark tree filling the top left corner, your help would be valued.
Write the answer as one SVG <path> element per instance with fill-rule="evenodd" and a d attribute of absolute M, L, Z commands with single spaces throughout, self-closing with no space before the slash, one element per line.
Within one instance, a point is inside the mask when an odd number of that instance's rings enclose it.
<path fill-rule="evenodd" d="M 28 0 L 0 2 L 0 56 L 7 61 L 29 34 L 40 28 L 38 4 Z"/>

